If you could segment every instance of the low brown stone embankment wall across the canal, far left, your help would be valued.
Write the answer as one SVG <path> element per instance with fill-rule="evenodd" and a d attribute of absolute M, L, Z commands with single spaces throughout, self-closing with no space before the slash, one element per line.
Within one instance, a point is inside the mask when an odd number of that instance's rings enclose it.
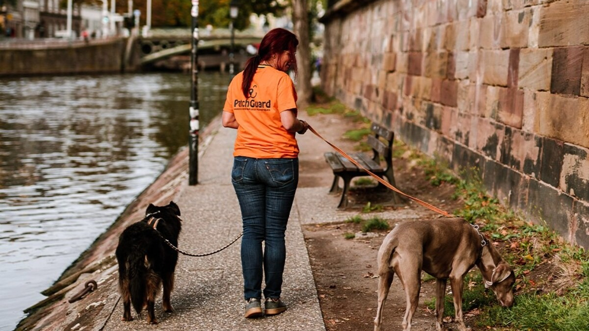
<path fill-rule="evenodd" d="M 132 46 L 127 47 L 127 39 L 112 39 L 0 48 L 0 77 L 132 71 L 140 61 L 138 44 Z M 125 57 L 127 49 L 131 53 Z"/>

